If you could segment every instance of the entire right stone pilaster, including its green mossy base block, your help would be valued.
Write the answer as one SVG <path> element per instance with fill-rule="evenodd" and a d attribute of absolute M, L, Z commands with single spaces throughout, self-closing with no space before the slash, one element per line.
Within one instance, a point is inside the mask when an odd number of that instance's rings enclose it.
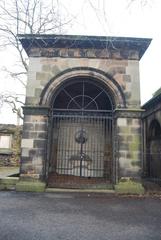
<path fill-rule="evenodd" d="M 142 167 L 141 110 L 116 111 L 116 134 L 118 139 L 118 184 L 117 193 L 143 194 L 140 182 Z"/>

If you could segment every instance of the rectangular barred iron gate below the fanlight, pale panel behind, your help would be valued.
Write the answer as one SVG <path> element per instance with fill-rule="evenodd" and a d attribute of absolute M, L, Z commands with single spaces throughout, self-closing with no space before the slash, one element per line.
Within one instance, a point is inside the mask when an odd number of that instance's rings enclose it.
<path fill-rule="evenodd" d="M 77 176 L 111 180 L 112 115 L 53 115 L 51 172 L 54 176 Z M 60 179 L 60 178 L 59 178 Z"/>

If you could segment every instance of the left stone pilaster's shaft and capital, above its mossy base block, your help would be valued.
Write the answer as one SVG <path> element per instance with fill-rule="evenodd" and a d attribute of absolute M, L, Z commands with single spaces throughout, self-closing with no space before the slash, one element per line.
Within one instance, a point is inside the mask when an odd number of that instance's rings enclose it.
<path fill-rule="evenodd" d="M 48 108 L 26 106 L 23 110 L 20 178 L 42 180 L 47 149 Z"/>

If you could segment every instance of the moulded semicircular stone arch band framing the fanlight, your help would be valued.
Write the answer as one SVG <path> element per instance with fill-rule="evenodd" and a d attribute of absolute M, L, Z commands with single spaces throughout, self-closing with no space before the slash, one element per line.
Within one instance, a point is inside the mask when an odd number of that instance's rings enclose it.
<path fill-rule="evenodd" d="M 102 87 L 106 88 L 115 108 L 126 107 L 123 90 L 116 80 L 108 73 L 99 69 L 87 67 L 68 69 L 52 78 L 41 93 L 40 105 L 51 106 L 54 95 L 57 91 L 59 91 L 61 86 L 70 80 L 77 80 L 79 77 L 93 79 L 97 83 L 101 84 Z"/>

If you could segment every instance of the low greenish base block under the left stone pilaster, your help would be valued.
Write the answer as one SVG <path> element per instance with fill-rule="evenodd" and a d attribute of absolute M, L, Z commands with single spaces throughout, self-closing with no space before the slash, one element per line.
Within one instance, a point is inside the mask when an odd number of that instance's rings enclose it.
<path fill-rule="evenodd" d="M 46 184 L 40 181 L 22 181 L 16 184 L 18 192 L 44 192 Z"/>

